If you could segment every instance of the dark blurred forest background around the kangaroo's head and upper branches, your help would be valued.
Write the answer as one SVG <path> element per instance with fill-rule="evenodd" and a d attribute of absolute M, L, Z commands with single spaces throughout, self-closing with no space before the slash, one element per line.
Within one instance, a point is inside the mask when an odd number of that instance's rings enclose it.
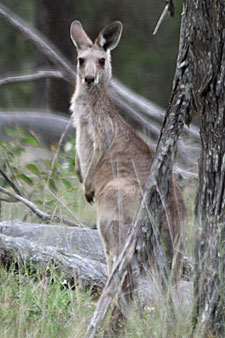
<path fill-rule="evenodd" d="M 74 19 L 82 22 L 92 39 L 111 21 L 122 21 L 122 39 L 112 52 L 114 76 L 135 92 L 167 107 L 176 64 L 181 1 L 175 1 L 175 17 L 168 16 L 156 36 L 152 32 L 165 6 L 163 0 L 4 0 L 2 3 L 42 31 L 74 64 L 76 51 L 69 37 Z M 5 22 L 0 21 L 0 32 L 0 77 L 52 67 Z M 50 108 L 68 113 L 71 91 L 63 80 L 11 84 L 0 88 L 0 109 Z"/>

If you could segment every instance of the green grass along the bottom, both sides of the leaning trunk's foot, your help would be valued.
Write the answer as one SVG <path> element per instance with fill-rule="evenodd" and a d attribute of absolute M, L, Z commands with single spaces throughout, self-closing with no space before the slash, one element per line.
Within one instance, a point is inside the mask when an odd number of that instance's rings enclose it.
<path fill-rule="evenodd" d="M 0 337 L 82 338 L 94 311 L 94 297 L 91 290 L 63 287 L 54 271 L 45 275 L 24 267 L 1 266 Z M 166 295 L 157 292 L 154 304 L 142 313 L 130 308 L 121 337 L 189 337 L 189 310 L 177 303 L 172 316 Z"/>

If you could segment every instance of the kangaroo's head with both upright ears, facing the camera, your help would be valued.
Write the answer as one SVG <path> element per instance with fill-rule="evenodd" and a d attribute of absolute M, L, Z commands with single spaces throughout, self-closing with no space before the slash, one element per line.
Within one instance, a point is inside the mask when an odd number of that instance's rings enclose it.
<path fill-rule="evenodd" d="M 112 76 L 110 51 L 120 40 L 122 24 L 119 21 L 106 26 L 93 43 L 79 21 L 73 21 L 70 34 L 77 48 L 77 77 L 87 88 L 105 87 Z"/>

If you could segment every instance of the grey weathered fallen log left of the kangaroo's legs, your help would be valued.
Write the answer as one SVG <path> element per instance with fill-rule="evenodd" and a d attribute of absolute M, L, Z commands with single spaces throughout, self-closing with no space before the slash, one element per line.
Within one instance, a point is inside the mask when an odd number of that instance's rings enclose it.
<path fill-rule="evenodd" d="M 56 269 L 81 287 L 101 290 L 107 267 L 97 230 L 55 225 L 0 223 L 0 257 L 33 268 Z"/>

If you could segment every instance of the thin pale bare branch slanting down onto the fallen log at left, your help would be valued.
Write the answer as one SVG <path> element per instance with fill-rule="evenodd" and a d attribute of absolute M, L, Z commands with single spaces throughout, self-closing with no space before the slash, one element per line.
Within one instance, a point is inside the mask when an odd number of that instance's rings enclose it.
<path fill-rule="evenodd" d="M 64 223 L 67 225 L 71 225 L 71 226 L 78 226 L 76 223 L 66 220 L 64 218 L 58 217 L 58 216 L 51 216 L 43 211 L 41 211 L 34 203 L 30 202 L 29 200 L 27 200 L 26 198 L 15 194 L 3 187 L 0 186 L 0 191 L 3 192 L 4 194 L 7 194 L 8 196 L 17 199 L 18 201 L 22 202 L 23 204 L 25 204 L 30 210 L 32 210 L 35 215 L 37 215 L 39 218 L 41 218 L 41 220 L 43 222 L 56 222 L 56 223 Z"/>

